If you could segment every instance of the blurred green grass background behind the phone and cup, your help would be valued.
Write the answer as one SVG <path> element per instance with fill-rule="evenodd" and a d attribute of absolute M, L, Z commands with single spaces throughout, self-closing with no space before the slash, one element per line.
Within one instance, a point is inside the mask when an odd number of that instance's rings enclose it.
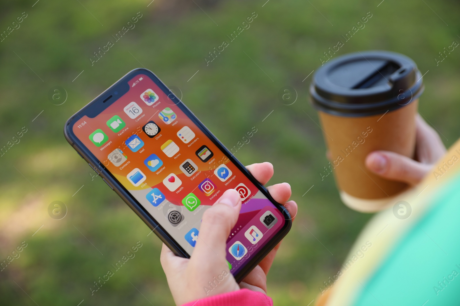
<path fill-rule="evenodd" d="M 434 60 L 453 40 L 460 41 L 458 3 L 195 2 L 206 13 L 189 1 L 0 3 L 1 32 L 23 11 L 28 14 L 0 42 L 0 145 L 28 128 L 20 143 L 0 157 L 0 259 L 22 241 L 28 243 L 0 272 L 1 305 L 77 305 L 81 300 L 82 306 L 173 305 L 159 262 L 159 239 L 147 236 L 147 226 L 100 178 L 92 178 L 92 170 L 63 137 L 64 122 L 75 111 L 133 68 L 146 67 L 178 87 L 185 104 L 228 147 L 252 127 L 258 129 L 236 157 L 244 164 L 272 162 L 270 184 L 291 184 L 292 199 L 299 204 L 268 277 L 276 305 L 307 305 L 315 299 L 370 217 L 340 202 L 332 176 L 321 180 L 328 161 L 316 112 L 308 103 L 311 76 L 302 81 L 367 12 L 373 17 L 337 56 L 383 49 L 413 58 L 427 72 L 420 112 L 446 145 L 458 138 L 460 51 L 439 66 Z M 143 17 L 136 27 L 91 66 L 93 52 L 138 11 Z M 254 11 L 258 16 L 250 28 L 206 66 L 208 52 L 228 41 L 226 35 Z M 47 98 L 56 85 L 68 93 L 61 106 Z M 298 93 L 290 106 L 277 98 L 286 85 Z M 62 220 L 47 214 L 54 200 L 68 207 Z M 136 257 L 91 295 L 93 282 L 137 241 L 143 247 Z"/>

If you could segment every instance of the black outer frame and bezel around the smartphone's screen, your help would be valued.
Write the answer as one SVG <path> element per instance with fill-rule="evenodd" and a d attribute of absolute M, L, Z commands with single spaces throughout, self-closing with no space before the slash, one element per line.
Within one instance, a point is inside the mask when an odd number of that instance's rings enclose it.
<path fill-rule="evenodd" d="M 236 273 L 234 278 L 239 283 L 242 281 L 244 277 L 248 273 L 250 273 L 254 267 L 259 264 L 259 262 L 272 250 L 283 238 L 288 234 L 291 226 L 292 226 L 292 218 L 288 212 L 288 210 L 282 206 L 281 204 L 277 203 L 270 195 L 268 190 L 264 187 L 264 185 L 260 184 L 253 175 L 242 165 L 240 161 L 238 161 L 233 154 L 225 146 L 217 139 L 211 131 L 209 131 L 203 123 L 189 110 L 184 103 L 177 98 L 174 93 L 167 88 L 167 86 L 161 82 L 161 80 L 150 70 L 145 68 L 136 68 L 128 72 L 118 81 L 116 81 L 113 85 L 111 85 L 108 89 L 104 90 L 103 93 L 98 95 L 94 100 L 89 102 L 86 106 L 81 108 L 80 111 L 77 111 L 72 117 L 70 117 L 64 126 L 64 136 L 65 139 L 69 142 L 70 145 L 77 151 L 77 153 L 92 167 L 98 175 L 100 175 L 104 182 L 109 185 L 109 187 L 114 190 L 120 197 L 123 199 L 126 204 L 131 207 L 131 209 L 144 221 L 145 224 L 161 239 L 161 241 L 166 244 L 177 256 L 190 258 L 190 255 L 168 234 L 168 232 L 156 222 L 155 218 L 150 215 L 150 213 L 145 210 L 145 208 L 129 193 L 129 191 L 122 185 L 118 180 L 110 173 L 104 164 L 96 158 L 92 154 L 92 152 L 86 148 L 85 145 L 78 139 L 75 134 L 73 133 L 73 126 L 74 124 L 81 119 L 84 115 L 93 115 L 92 117 L 96 117 L 101 111 L 108 108 L 112 103 L 116 100 L 120 99 L 122 95 L 124 95 L 127 91 L 129 91 L 130 86 L 127 83 L 132 78 L 134 78 L 138 74 L 145 74 L 150 77 L 153 82 L 168 96 L 170 100 L 174 100 L 174 104 L 177 105 L 184 113 L 192 120 L 198 128 L 203 131 L 203 133 L 224 153 L 224 155 L 231 161 L 233 164 L 240 169 L 244 175 L 255 185 L 257 188 L 262 192 L 263 195 L 269 199 L 273 205 L 282 213 L 285 223 L 282 228 L 279 228 L 278 233 L 275 234 L 267 243 L 257 250 L 245 263 L 245 266 Z M 126 87 L 127 86 L 127 87 Z M 127 90 L 126 90 L 127 89 Z M 107 99 L 109 95 L 114 96 L 115 92 L 121 90 L 123 93 L 116 99 L 112 99 L 110 103 L 103 102 Z M 114 97 L 112 97 L 114 98 Z M 177 101 L 177 102 L 175 102 Z M 88 116 L 91 117 L 91 116 Z M 231 274 L 231 273 L 230 273 Z"/>

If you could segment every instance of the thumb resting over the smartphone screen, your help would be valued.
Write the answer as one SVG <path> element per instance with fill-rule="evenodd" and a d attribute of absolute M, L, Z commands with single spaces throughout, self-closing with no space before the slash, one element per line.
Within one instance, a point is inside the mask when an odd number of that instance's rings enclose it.
<path fill-rule="evenodd" d="M 225 260 L 225 242 L 238 220 L 240 209 L 240 194 L 235 189 L 228 189 L 204 212 L 192 258 L 215 261 L 218 257 L 219 261 Z"/>

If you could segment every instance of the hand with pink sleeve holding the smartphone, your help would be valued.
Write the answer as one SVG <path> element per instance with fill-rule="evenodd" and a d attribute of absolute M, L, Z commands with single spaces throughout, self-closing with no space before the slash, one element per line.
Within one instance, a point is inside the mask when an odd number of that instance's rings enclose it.
<path fill-rule="evenodd" d="M 266 184 L 273 175 L 273 166 L 269 162 L 253 164 L 247 166 L 247 169 L 262 184 Z M 297 204 L 288 201 L 291 196 L 291 186 L 282 183 L 269 186 L 267 189 L 273 199 L 283 204 L 291 216 L 295 217 Z M 177 305 L 240 288 L 266 292 L 266 276 L 281 243 L 276 245 L 241 284 L 236 283 L 227 266 L 225 242 L 238 220 L 240 209 L 241 198 L 238 192 L 234 189 L 225 191 L 203 214 L 198 241 L 190 259 L 175 256 L 163 244 L 161 266 Z M 212 283 L 214 278 L 219 279 L 219 284 L 209 290 L 212 288 L 209 282 Z"/>

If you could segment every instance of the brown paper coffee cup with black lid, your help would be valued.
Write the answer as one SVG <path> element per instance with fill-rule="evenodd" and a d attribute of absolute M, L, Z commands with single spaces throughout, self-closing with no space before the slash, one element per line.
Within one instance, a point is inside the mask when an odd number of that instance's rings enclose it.
<path fill-rule="evenodd" d="M 311 102 L 332 159 L 322 175 L 334 173 L 345 205 L 378 211 L 408 189 L 370 172 L 364 162 L 374 150 L 414 157 L 415 114 L 423 89 L 414 61 L 394 52 L 352 53 L 316 71 Z"/>

